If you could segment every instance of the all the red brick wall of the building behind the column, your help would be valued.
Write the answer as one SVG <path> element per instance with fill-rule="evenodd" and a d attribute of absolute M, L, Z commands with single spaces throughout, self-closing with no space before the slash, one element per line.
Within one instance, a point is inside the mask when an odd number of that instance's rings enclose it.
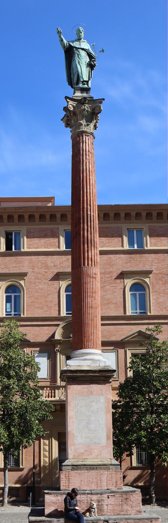
<path fill-rule="evenodd" d="M 165 247 L 167 245 L 166 226 L 149 225 L 150 247 Z M 121 247 L 122 228 L 121 225 L 99 227 L 100 247 Z M 40 226 L 27 228 L 27 248 L 57 248 L 58 247 L 58 227 Z M 163 252 L 150 252 L 147 249 L 141 253 L 138 251 L 128 252 L 119 251 L 100 254 L 100 280 L 101 280 L 101 314 L 114 315 L 112 319 L 102 322 L 102 340 L 121 340 L 126 335 L 149 325 L 150 316 L 144 320 L 138 316 L 131 319 L 127 316 L 118 318 L 118 315 L 126 314 L 125 310 L 125 290 L 124 275 L 122 270 L 149 270 L 151 274 L 151 298 L 152 313 L 165 314 L 167 310 L 167 255 Z M 51 342 L 54 337 L 59 320 L 54 316 L 60 314 L 59 303 L 59 271 L 71 270 L 70 252 L 58 251 L 50 253 L 4 253 L 1 257 L 1 272 L 27 272 L 26 277 L 26 316 L 41 316 L 38 321 L 21 321 L 21 331 L 27 333 L 27 337 L 38 344 L 28 347 L 29 353 L 34 349 L 42 349 L 51 353 L 51 383 L 55 382 L 55 349 Z M 53 316 L 47 319 L 45 316 Z M 163 321 L 165 321 L 163 319 Z M 154 323 L 161 323 L 162 319 L 152 320 Z M 163 332 L 160 340 L 166 339 L 167 327 L 163 325 Z M 46 345 L 40 342 L 47 341 Z M 109 346 L 109 345 L 108 345 Z M 104 344 L 103 344 L 104 348 Z M 125 379 L 125 348 L 122 342 L 113 345 L 112 349 L 118 349 L 119 380 Z M 41 380 L 44 383 L 44 380 Z M 47 382 L 46 382 L 47 383 Z M 116 396 L 118 381 L 113 381 L 112 397 Z M 35 472 L 39 473 L 39 442 L 35 444 Z M 25 469 L 23 471 L 13 471 L 9 473 L 10 484 L 30 483 L 33 462 L 33 447 L 24 451 Z M 123 459 L 123 472 L 126 475 L 125 484 L 141 485 L 149 483 L 148 469 L 133 469 L 129 458 Z M 157 468 L 157 492 L 163 491 L 165 470 Z M 0 471 L 0 483 L 3 484 L 3 471 Z M 50 485 L 51 486 L 51 485 Z"/>

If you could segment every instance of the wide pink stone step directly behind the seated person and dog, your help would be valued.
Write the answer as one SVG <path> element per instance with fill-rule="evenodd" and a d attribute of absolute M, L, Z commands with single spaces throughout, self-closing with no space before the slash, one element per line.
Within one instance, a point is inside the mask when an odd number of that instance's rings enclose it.
<path fill-rule="evenodd" d="M 62 517 L 64 509 L 64 497 L 66 491 L 45 491 L 45 516 Z M 97 506 L 97 515 L 115 516 L 116 514 L 128 515 L 141 514 L 141 493 L 138 488 L 123 487 L 108 490 L 79 491 L 78 506 L 84 512 L 94 501 Z M 87 518 L 88 519 L 88 518 Z"/>

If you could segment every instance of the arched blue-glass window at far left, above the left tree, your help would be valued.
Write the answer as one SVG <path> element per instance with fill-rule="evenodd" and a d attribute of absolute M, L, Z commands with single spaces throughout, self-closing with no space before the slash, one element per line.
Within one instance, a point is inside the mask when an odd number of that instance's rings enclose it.
<path fill-rule="evenodd" d="M 21 290 L 16 285 L 5 290 L 5 316 L 21 316 Z"/>

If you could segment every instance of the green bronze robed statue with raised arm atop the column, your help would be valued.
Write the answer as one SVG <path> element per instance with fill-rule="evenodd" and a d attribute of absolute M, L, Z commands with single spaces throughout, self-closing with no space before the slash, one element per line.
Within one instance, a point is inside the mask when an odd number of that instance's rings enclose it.
<path fill-rule="evenodd" d="M 66 41 L 62 30 L 57 27 L 59 42 L 65 53 L 65 70 L 68 85 L 70 87 L 90 87 L 92 72 L 96 66 L 95 55 L 88 42 L 83 40 L 84 30 L 78 27 L 77 38 Z"/>

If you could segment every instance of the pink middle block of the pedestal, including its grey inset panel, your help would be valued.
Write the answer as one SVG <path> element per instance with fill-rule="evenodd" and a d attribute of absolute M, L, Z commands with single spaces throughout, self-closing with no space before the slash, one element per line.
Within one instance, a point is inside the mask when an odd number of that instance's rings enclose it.
<path fill-rule="evenodd" d="M 68 380 L 67 459 L 94 460 L 113 457 L 111 410 L 111 383 L 86 383 L 84 380 L 76 383 Z"/>

